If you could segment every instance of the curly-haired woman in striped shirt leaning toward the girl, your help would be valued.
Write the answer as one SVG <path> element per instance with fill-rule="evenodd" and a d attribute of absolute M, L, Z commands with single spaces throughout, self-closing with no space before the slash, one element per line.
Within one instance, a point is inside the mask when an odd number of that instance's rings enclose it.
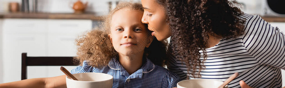
<path fill-rule="evenodd" d="M 284 34 L 235 4 L 227 0 L 142 0 L 142 22 L 158 40 L 171 36 L 168 69 L 181 79 L 225 81 L 239 72 L 229 88 L 280 88 Z"/>

